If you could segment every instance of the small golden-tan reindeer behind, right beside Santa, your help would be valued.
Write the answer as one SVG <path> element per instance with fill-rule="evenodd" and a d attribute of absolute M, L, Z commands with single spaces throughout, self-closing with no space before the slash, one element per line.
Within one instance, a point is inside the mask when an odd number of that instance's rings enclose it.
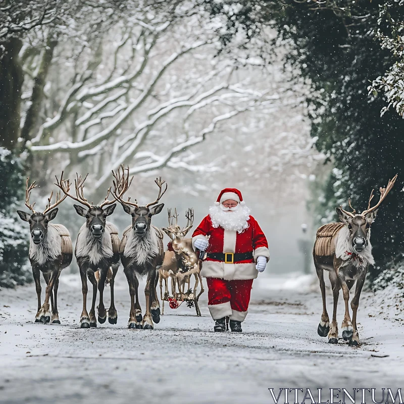
<path fill-rule="evenodd" d="M 172 295 L 176 296 L 175 285 L 178 284 L 178 292 L 185 292 L 185 283 L 188 283 L 188 291 L 190 293 L 190 279 L 191 276 L 195 277 L 194 293 L 196 293 L 196 288 L 200 280 L 201 290 L 196 296 L 195 294 L 195 306 L 197 304 L 197 299 L 205 291 L 202 279 L 200 277 L 200 264 L 195 251 L 192 248 L 192 239 L 184 238 L 188 231 L 193 225 L 193 209 L 188 209 L 185 213 L 187 219 L 186 226 L 181 229 L 178 226 L 178 215 L 175 209 L 174 215 L 171 215 L 171 209 L 168 210 L 168 228 L 162 228 L 162 230 L 170 237 L 172 251 L 166 251 L 163 266 L 159 271 L 160 279 L 160 294 L 163 299 L 163 279 L 165 280 L 166 292 L 168 290 L 168 277 L 171 277 L 171 289 Z M 175 219 L 175 225 L 174 225 Z M 198 311 L 197 311 L 198 312 Z"/>

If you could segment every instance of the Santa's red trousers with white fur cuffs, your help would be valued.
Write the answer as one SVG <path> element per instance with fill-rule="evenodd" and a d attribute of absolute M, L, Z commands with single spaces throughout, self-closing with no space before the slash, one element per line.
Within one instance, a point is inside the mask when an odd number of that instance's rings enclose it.
<path fill-rule="evenodd" d="M 230 316 L 231 320 L 244 321 L 254 279 L 226 281 L 220 278 L 206 278 L 206 280 L 209 289 L 208 307 L 213 319 Z"/>

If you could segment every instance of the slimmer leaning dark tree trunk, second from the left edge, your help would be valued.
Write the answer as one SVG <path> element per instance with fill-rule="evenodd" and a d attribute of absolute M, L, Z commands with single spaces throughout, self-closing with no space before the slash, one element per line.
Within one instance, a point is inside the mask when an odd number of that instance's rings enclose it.
<path fill-rule="evenodd" d="M 21 130 L 21 137 L 24 139 L 24 142 L 30 140 L 32 138 L 32 132 L 37 129 L 38 115 L 43 99 L 43 87 L 45 86 L 47 72 L 51 66 L 54 48 L 57 43 L 55 39 L 50 39 L 47 41 L 43 50 L 38 73 L 35 76 L 34 86 L 32 88 L 31 105 L 28 108 L 24 126 Z"/>

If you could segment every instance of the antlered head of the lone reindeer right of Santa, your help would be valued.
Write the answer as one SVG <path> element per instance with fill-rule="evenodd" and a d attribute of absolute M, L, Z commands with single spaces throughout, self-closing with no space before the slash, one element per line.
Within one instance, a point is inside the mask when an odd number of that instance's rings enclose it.
<path fill-rule="evenodd" d="M 349 241 L 352 248 L 356 252 L 362 252 L 369 244 L 370 239 L 370 227 L 376 219 L 376 214 L 379 205 L 382 203 L 383 199 L 386 197 L 388 192 L 394 186 L 394 182 L 397 175 L 389 180 L 386 188 L 380 188 L 380 199 L 378 203 L 370 207 L 371 200 L 373 199 L 373 189 L 369 197 L 368 209 L 363 211 L 361 214 L 357 214 L 356 210 L 350 205 L 350 199 L 348 199 L 349 207 L 352 212 L 347 212 L 342 209 L 342 206 L 336 208 L 337 214 L 341 222 L 343 222 L 349 230 Z"/>

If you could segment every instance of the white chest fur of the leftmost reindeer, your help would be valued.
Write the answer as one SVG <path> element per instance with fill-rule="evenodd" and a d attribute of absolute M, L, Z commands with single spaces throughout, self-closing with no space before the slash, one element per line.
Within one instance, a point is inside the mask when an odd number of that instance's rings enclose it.
<path fill-rule="evenodd" d="M 39 265 L 44 265 L 48 261 L 55 261 L 61 254 L 62 238 L 52 223 L 48 224 L 46 236 L 39 244 L 34 244 L 32 237 L 30 237 L 29 258 Z"/>

